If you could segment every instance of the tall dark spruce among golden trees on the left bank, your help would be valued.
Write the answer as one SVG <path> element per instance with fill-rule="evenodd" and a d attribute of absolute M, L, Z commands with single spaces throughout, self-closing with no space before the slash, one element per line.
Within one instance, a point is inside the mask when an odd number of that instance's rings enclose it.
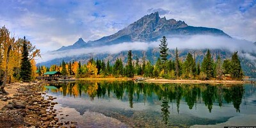
<path fill-rule="evenodd" d="M 29 82 L 31 81 L 32 67 L 28 58 L 29 56 L 28 44 L 25 36 L 24 36 L 22 45 L 23 45 L 23 49 L 22 49 L 22 59 L 21 59 L 21 66 L 20 66 L 20 78 L 24 82 Z"/>

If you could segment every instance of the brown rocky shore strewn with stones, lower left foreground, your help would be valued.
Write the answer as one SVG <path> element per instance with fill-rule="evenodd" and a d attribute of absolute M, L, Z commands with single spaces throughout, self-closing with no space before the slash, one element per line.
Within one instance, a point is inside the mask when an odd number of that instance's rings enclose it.
<path fill-rule="evenodd" d="M 57 118 L 54 97 L 42 92 L 42 83 L 22 84 L 12 96 L 1 95 L 8 102 L 0 111 L 0 127 L 76 127 Z"/>

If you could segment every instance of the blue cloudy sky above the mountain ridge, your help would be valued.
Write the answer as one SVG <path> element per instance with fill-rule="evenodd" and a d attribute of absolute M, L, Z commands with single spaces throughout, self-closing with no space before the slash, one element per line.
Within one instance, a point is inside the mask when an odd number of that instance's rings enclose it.
<path fill-rule="evenodd" d="M 256 42 L 256 0 L 1 0 L 0 26 L 16 38 L 26 36 L 42 54 L 82 37 L 96 40 L 152 12 L 190 26 L 218 28 Z"/>

